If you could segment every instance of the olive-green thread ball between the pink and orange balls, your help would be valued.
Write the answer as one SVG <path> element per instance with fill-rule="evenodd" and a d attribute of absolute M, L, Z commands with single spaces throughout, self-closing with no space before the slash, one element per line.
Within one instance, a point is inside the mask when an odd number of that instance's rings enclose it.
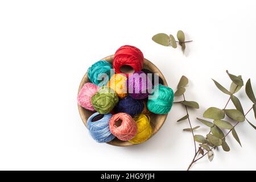
<path fill-rule="evenodd" d="M 93 108 L 100 114 L 107 114 L 112 111 L 118 102 L 118 96 L 113 89 L 102 86 L 94 96 L 92 96 Z"/>

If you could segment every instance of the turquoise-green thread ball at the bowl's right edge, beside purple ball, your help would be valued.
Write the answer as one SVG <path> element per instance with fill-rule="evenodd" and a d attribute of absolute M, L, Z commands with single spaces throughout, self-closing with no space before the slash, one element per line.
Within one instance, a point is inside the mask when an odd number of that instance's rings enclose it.
<path fill-rule="evenodd" d="M 174 102 L 174 91 L 168 86 L 159 84 L 158 90 L 150 94 L 154 98 L 148 98 L 147 108 L 155 114 L 167 114 Z"/>

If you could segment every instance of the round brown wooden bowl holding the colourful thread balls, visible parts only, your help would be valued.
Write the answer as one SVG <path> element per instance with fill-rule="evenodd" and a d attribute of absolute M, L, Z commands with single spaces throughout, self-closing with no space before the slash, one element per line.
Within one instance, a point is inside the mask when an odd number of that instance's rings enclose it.
<path fill-rule="evenodd" d="M 101 60 L 106 60 L 106 61 L 109 61 L 109 63 L 113 63 L 113 59 L 114 59 L 114 55 L 105 57 L 104 59 L 101 59 Z M 160 70 L 153 63 L 151 63 L 147 59 L 144 59 L 143 68 L 144 69 L 149 69 L 150 71 L 152 71 L 154 73 L 158 73 L 159 77 L 161 77 L 163 79 L 164 85 L 167 86 L 167 82 L 166 82 L 166 79 L 164 78 L 163 74 L 160 72 Z M 90 82 L 90 80 L 87 76 L 87 73 L 85 73 L 84 77 L 82 78 L 82 81 L 81 81 L 80 86 L 79 86 L 79 92 L 80 92 L 82 86 L 86 82 Z M 81 107 L 79 105 L 78 105 L 78 107 L 79 107 L 80 116 L 82 118 L 82 122 L 84 122 L 84 125 L 87 127 L 87 125 L 86 125 L 87 119 L 90 117 L 90 115 L 93 114 L 93 112 L 89 111 L 89 110 L 86 110 L 86 109 L 84 109 L 84 107 Z M 167 118 L 167 114 L 154 114 L 154 113 L 150 114 L 150 123 L 151 123 L 152 129 L 153 129 L 153 133 L 152 133 L 151 137 L 160 130 L 164 121 L 166 121 L 166 118 Z M 126 147 L 126 146 L 132 146 L 133 145 L 132 143 L 130 143 L 128 141 L 124 142 L 124 141 L 121 141 L 117 138 L 108 142 L 108 144 L 112 144 L 113 146 L 119 146 L 119 147 Z"/>

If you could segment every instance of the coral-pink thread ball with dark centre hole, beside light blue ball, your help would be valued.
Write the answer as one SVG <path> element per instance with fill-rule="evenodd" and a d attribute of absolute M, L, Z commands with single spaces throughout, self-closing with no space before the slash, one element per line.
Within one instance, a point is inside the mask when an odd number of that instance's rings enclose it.
<path fill-rule="evenodd" d="M 127 141 L 137 134 L 137 124 L 133 118 L 126 113 L 114 114 L 109 121 L 110 132 L 119 140 Z"/>

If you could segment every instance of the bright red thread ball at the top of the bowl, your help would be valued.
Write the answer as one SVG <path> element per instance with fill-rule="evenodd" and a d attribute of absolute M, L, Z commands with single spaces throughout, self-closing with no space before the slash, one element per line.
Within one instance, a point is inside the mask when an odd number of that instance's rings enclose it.
<path fill-rule="evenodd" d="M 128 65 L 134 69 L 134 72 L 141 71 L 143 67 L 143 53 L 134 46 L 122 46 L 115 52 L 113 67 L 115 73 L 121 73 L 121 67 Z"/>

